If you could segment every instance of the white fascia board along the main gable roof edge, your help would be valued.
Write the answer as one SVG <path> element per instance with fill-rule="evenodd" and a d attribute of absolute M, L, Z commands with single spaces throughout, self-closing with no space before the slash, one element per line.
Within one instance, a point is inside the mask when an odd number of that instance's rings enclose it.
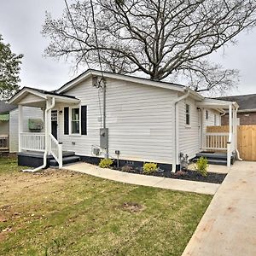
<path fill-rule="evenodd" d="M 97 70 L 89 70 L 88 72 L 79 76 L 77 79 L 74 79 L 70 83 L 67 83 L 66 85 L 61 87 L 59 90 L 56 90 L 56 93 L 62 93 L 62 92 L 65 92 L 65 91 L 73 88 L 76 84 L 79 84 L 81 81 L 84 81 L 84 79 L 88 79 L 91 75 L 92 76 L 102 76 L 102 72 L 97 71 Z M 127 81 L 127 82 L 132 82 L 132 83 L 137 83 L 137 84 L 146 84 L 146 85 L 151 85 L 151 86 L 155 86 L 155 87 L 159 87 L 159 88 L 165 88 L 165 89 L 169 89 L 169 90 L 177 90 L 177 91 L 182 91 L 182 92 L 184 90 L 186 90 L 185 86 L 183 87 L 183 86 L 179 86 L 176 84 L 157 82 L 157 81 L 152 81 L 152 80 L 148 80 L 148 79 L 120 75 L 120 74 L 116 74 L 116 73 L 104 73 L 103 72 L 103 76 L 106 78 L 109 78 L 109 79 L 119 79 L 119 80 L 123 80 L 123 81 Z"/>

